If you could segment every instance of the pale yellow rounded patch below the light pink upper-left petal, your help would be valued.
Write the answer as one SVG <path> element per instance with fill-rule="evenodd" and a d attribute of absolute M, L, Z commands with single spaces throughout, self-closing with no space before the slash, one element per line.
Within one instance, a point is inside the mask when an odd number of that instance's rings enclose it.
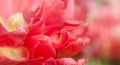
<path fill-rule="evenodd" d="M 25 24 L 22 13 L 16 13 L 10 16 L 8 20 L 9 31 L 15 31 L 18 29 L 25 29 L 25 28 L 26 28 L 26 24 Z"/>

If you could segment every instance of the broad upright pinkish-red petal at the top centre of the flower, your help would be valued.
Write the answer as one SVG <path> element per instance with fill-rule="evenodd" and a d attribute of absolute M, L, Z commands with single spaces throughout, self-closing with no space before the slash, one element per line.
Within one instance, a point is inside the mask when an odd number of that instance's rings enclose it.
<path fill-rule="evenodd" d="M 48 26 L 62 24 L 64 20 L 62 8 L 63 2 L 60 0 L 42 0 L 35 18 L 45 21 Z"/>

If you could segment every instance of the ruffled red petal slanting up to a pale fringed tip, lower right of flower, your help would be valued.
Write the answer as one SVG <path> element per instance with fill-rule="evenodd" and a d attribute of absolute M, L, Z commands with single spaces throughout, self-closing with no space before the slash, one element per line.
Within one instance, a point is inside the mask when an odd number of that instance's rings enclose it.
<path fill-rule="evenodd" d="M 78 38 L 67 42 L 67 45 L 57 49 L 59 57 L 71 57 L 79 53 L 89 43 L 89 38 Z"/>

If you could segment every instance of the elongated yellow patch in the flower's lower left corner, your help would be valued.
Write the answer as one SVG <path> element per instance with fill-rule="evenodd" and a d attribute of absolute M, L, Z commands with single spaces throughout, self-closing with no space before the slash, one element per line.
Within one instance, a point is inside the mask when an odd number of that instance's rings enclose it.
<path fill-rule="evenodd" d="M 23 47 L 11 48 L 11 47 L 0 47 L 0 57 L 7 58 L 15 61 L 27 60 L 27 57 L 23 57 L 23 53 L 26 50 Z"/>

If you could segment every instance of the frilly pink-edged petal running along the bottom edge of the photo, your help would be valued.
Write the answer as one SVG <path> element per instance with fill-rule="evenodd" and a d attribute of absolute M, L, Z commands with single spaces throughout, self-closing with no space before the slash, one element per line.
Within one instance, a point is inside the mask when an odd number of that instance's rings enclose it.
<path fill-rule="evenodd" d="M 77 62 L 73 58 L 59 58 L 59 59 L 49 58 L 42 65 L 84 65 L 85 62 L 86 59 L 80 59 Z"/>

